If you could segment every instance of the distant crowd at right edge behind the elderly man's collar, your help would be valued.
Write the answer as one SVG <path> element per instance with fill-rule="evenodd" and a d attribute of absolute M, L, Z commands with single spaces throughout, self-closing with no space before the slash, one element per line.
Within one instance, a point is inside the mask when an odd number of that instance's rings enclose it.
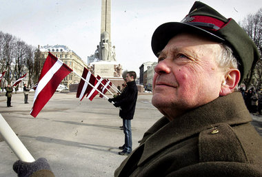
<path fill-rule="evenodd" d="M 249 112 L 252 114 L 258 112 L 258 114 L 262 115 L 262 89 L 254 90 L 254 87 L 252 87 L 250 90 L 243 90 L 241 88 L 240 91 Z"/>

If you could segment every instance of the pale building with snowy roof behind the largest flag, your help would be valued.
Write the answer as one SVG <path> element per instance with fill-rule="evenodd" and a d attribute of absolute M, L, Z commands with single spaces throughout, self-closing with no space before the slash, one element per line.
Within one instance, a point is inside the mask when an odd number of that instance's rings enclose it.
<path fill-rule="evenodd" d="M 44 45 L 39 46 L 40 57 L 41 59 L 46 60 L 48 52 L 51 52 L 58 59 L 63 61 L 68 67 L 70 67 L 74 72 L 80 76 L 83 73 L 83 67 L 88 67 L 87 63 L 82 61 L 82 59 L 73 51 L 70 50 L 66 45 Z M 68 76 L 61 81 L 61 85 L 66 85 L 69 87 L 70 84 L 79 83 L 79 76 L 71 72 Z"/>

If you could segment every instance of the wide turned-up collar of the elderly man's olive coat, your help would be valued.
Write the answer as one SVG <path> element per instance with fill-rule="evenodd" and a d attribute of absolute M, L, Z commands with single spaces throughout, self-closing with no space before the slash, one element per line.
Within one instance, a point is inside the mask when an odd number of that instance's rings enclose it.
<path fill-rule="evenodd" d="M 145 132 L 141 140 L 144 150 L 138 165 L 168 145 L 198 134 L 204 129 L 210 129 L 219 123 L 237 125 L 250 121 L 252 118 L 245 107 L 241 93 L 238 92 L 220 96 L 206 105 L 175 118 L 172 122 L 168 122 L 167 118 L 163 117 L 148 129 L 148 132 Z"/>

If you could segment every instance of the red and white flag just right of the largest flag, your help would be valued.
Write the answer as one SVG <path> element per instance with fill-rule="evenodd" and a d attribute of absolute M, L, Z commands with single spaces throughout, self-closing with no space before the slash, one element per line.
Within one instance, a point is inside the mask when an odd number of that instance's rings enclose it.
<path fill-rule="evenodd" d="M 96 77 L 85 67 L 83 68 L 82 78 L 93 86 L 97 83 Z M 92 86 L 83 81 L 83 79 L 81 79 L 77 88 L 77 98 L 80 98 L 80 101 L 82 101 L 85 94 L 89 94 L 92 90 Z"/>

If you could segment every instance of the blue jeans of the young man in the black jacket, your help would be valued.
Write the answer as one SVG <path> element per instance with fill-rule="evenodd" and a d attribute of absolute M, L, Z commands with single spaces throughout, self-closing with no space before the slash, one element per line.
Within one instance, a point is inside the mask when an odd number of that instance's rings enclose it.
<path fill-rule="evenodd" d="M 125 148 L 123 152 L 132 152 L 131 120 L 123 118 L 123 133 L 125 134 Z"/>

